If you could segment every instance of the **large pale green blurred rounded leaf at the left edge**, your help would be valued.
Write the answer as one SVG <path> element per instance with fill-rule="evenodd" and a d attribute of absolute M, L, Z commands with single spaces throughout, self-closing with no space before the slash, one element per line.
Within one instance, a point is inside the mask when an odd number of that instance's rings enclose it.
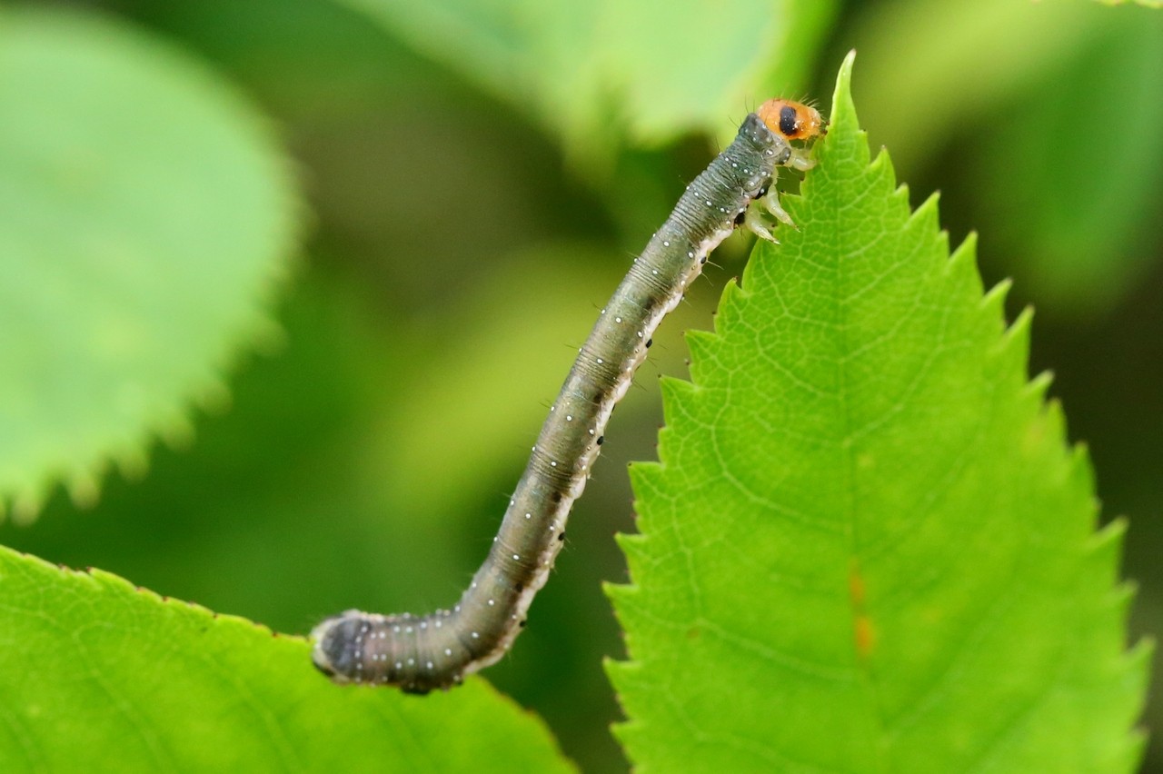
<path fill-rule="evenodd" d="M 298 203 L 252 107 L 97 17 L 0 13 L 0 514 L 183 439 L 273 324 Z"/>

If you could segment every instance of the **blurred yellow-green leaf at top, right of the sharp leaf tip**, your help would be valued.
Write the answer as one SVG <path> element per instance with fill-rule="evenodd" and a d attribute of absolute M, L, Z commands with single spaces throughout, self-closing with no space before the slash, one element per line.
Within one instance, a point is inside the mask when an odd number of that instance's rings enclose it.
<path fill-rule="evenodd" d="M 864 126 L 873 141 L 892 143 L 902 167 L 932 158 L 958 131 L 1008 137 L 1027 120 L 1018 95 L 1070 62 L 1112 19 L 1087 2 L 872 5 L 858 29 Z"/>

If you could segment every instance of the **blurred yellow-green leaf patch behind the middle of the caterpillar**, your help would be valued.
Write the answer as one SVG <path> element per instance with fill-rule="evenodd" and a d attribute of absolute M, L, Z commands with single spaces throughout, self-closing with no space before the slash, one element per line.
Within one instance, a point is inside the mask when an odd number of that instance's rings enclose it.
<path fill-rule="evenodd" d="M 584 341 L 619 280 L 605 256 L 578 245 L 544 244 L 498 263 L 440 329 L 416 331 L 423 367 L 372 433 L 379 449 L 364 460 L 368 474 L 386 475 L 406 513 L 464 510 L 497 480 L 515 482 L 577 356 L 570 343 Z M 456 487 L 440 486 L 448 471 L 458 472 Z"/>

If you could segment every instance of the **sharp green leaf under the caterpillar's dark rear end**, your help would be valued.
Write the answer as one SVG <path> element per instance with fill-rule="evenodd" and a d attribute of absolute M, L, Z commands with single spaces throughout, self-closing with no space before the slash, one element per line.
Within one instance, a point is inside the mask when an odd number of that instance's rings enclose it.
<path fill-rule="evenodd" d="M 0 549 L 5 771 L 561 772 L 485 681 L 423 698 L 342 688 L 308 643 Z"/>

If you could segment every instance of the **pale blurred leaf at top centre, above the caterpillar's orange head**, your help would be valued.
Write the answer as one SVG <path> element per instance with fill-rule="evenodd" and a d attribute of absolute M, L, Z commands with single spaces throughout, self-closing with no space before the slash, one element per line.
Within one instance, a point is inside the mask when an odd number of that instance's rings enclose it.
<path fill-rule="evenodd" d="M 613 110 L 638 139 L 718 129 L 723 114 L 802 88 L 834 2 L 344 0 L 523 107 L 572 151 L 605 150 Z M 454 45 L 449 42 L 455 41 Z"/>

